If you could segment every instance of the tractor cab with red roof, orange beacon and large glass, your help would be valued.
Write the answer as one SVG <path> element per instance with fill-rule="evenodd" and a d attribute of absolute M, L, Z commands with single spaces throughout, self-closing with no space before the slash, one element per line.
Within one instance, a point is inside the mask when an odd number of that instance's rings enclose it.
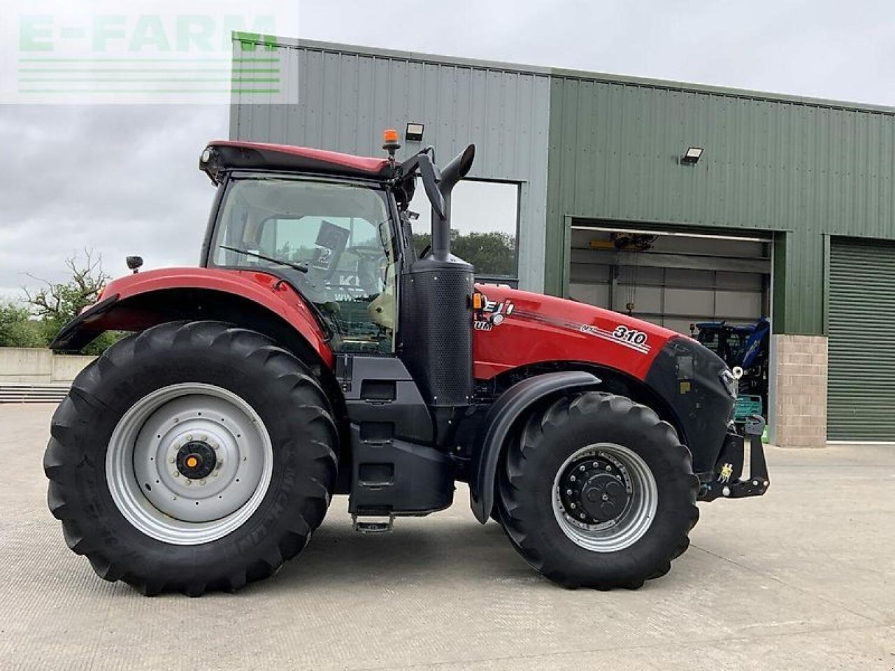
<path fill-rule="evenodd" d="M 431 149 L 397 164 L 400 145 L 390 133 L 384 144 L 389 157 L 383 159 L 210 143 L 200 168 L 219 193 L 202 266 L 282 276 L 315 308 L 333 352 L 395 352 L 396 283 L 405 259 L 415 260 L 404 210 L 416 176 L 434 203 L 433 240 L 442 244 L 431 253 L 444 252 L 441 261 L 453 263 L 445 249 L 449 234 L 439 225 L 447 229 L 450 190 L 472 165 L 473 149 L 442 174 L 432 164 Z"/>

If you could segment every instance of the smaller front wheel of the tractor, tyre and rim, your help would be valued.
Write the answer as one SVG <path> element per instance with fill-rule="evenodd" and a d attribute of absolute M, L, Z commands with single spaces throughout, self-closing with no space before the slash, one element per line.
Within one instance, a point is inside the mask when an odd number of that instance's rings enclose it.
<path fill-rule="evenodd" d="M 697 488 L 668 422 L 624 396 L 586 392 L 528 418 L 507 447 L 499 512 L 513 546 L 550 580 L 636 589 L 686 550 Z"/>

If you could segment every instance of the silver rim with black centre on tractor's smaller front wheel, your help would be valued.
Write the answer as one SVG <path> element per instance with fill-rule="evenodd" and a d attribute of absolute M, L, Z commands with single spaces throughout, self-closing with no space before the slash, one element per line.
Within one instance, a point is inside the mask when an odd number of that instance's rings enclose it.
<path fill-rule="evenodd" d="M 598 443 L 562 463 L 552 490 L 559 528 L 592 552 L 634 545 L 652 525 L 659 488 L 643 458 L 626 446 Z"/>

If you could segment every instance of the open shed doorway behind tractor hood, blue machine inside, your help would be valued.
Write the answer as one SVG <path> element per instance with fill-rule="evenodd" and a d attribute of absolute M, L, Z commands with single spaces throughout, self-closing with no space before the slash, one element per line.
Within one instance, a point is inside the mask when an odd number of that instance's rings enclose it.
<path fill-rule="evenodd" d="M 735 419 L 768 416 L 771 241 L 574 225 L 569 295 L 698 337 L 741 366 Z"/>

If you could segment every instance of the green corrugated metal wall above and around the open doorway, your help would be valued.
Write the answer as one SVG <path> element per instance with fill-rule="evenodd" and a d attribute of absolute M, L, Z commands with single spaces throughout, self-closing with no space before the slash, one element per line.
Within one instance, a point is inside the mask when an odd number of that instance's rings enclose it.
<path fill-rule="evenodd" d="M 567 216 L 779 231 L 775 330 L 822 334 L 823 234 L 895 238 L 893 157 L 891 112 L 554 76 L 545 288 Z"/>

